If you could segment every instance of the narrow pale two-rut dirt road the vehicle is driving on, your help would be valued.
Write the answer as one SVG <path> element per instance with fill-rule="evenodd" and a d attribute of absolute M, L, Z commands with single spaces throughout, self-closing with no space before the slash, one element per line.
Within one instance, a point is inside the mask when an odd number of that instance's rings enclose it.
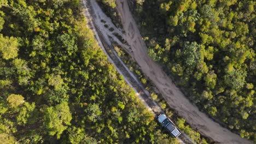
<path fill-rule="evenodd" d="M 152 112 L 155 117 L 157 117 L 159 113 L 164 113 L 161 107 L 157 103 L 155 103 L 155 101 L 150 97 L 149 92 L 143 87 L 142 83 L 133 73 L 131 73 L 129 68 L 124 64 L 123 61 L 121 61 L 121 59 L 117 55 L 117 52 L 115 52 L 115 50 L 113 49 L 110 42 L 113 40 L 116 43 L 120 43 L 120 45 L 123 45 L 124 47 L 129 49 L 128 45 L 121 43 L 121 41 L 119 41 L 114 35 L 117 33 L 122 34 L 120 32 L 120 29 L 114 27 L 110 19 L 101 11 L 100 7 L 98 7 L 95 0 L 87 2 L 85 0 L 82 0 L 82 3 L 85 7 L 84 16 L 88 21 L 87 26 L 89 26 L 89 28 L 92 29 L 92 31 L 94 32 L 95 38 L 98 41 L 98 45 L 107 55 L 109 62 L 114 65 L 115 69 L 117 69 L 117 71 L 124 77 L 125 81 L 134 89 L 139 99 L 141 99 L 141 101 L 146 105 L 147 109 Z M 102 23 L 104 24 L 104 26 L 102 25 Z M 114 30 L 112 32 L 109 32 L 109 29 L 106 27 L 106 25 L 108 25 L 108 27 L 114 27 Z M 177 137 L 177 139 L 182 144 L 194 143 L 190 139 L 190 137 L 188 137 L 184 133 Z"/>

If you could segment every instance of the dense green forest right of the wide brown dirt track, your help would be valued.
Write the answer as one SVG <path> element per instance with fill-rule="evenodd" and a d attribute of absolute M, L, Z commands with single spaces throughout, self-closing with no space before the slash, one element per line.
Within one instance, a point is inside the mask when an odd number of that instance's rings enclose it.
<path fill-rule="evenodd" d="M 200 109 L 254 141 L 255 4 L 161 0 L 135 8 L 149 56 Z"/>

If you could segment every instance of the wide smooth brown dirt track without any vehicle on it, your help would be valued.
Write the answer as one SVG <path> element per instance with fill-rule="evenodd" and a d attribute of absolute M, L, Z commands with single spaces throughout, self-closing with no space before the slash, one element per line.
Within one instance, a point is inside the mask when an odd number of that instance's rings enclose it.
<path fill-rule="evenodd" d="M 185 118 L 193 128 L 197 128 L 200 133 L 218 143 L 253 143 L 223 128 L 191 104 L 160 66 L 147 55 L 147 46 L 142 40 L 127 1 L 117 0 L 117 9 L 125 31 L 123 38 L 131 46 L 131 49 L 124 48 L 130 51 L 131 56 L 141 67 L 143 73 L 153 81 L 167 103 L 178 111 L 179 115 Z"/>

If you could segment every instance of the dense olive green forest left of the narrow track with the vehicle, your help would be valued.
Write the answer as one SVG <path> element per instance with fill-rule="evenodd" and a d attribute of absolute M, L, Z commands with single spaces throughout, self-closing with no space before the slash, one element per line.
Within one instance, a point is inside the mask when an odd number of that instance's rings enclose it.
<path fill-rule="evenodd" d="M 0 1 L 0 141 L 175 142 L 107 61 L 82 11 L 78 0 Z"/>

